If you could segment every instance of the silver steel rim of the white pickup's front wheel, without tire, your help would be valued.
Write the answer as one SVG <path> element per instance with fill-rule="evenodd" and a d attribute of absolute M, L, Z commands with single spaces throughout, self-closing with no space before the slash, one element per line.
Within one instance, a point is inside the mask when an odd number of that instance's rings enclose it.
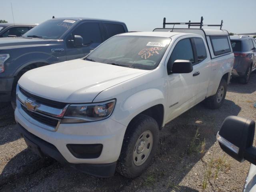
<path fill-rule="evenodd" d="M 136 166 L 140 166 L 146 162 L 153 147 L 153 134 L 151 131 L 144 131 L 136 141 L 132 160 Z"/>

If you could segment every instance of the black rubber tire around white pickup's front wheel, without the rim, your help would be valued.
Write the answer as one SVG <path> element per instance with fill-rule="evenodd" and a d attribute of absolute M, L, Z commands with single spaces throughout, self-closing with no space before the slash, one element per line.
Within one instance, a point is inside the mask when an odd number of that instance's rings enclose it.
<path fill-rule="evenodd" d="M 133 158 L 134 152 L 138 148 L 138 146 L 136 146 L 136 142 L 138 142 L 139 137 L 141 138 L 141 135 L 146 131 L 150 131 L 152 133 L 152 148 L 145 161 L 141 165 L 136 165 L 134 164 Z M 127 178 L 135 178 L 141 175 L 148 168 L 154 154 L 156 153 L 158 138 L 159 127 L 156 120 L 144 114 L 136 116 L 132 122 L 130 122 L 124 135 L 122 150 L 116 167 L 117 171 Z M 146 148 L 149 148 L 148 145 Z"/>

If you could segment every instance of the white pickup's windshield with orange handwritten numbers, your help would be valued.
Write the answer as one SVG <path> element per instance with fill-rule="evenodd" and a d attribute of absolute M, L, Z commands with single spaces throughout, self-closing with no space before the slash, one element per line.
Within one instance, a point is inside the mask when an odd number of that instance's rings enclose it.
<path fill-rule="evenodd" d="M 152 70 L 158 66 L 170 42 L 170 38 L 163 37 L 114 36 L 85 60 Z"/>

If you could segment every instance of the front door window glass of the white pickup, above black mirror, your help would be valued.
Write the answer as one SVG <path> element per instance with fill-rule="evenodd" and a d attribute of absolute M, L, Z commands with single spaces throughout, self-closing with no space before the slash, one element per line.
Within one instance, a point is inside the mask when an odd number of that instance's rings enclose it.
<path fill-rule="evenodd" d="M 194 63 L 194 54 L 189 38 L 180 40 L 172 50 L 172 54 L 167 64 L 168 71 L 172 70 L 172 64 L 178 59 L 190 60 Z"/>

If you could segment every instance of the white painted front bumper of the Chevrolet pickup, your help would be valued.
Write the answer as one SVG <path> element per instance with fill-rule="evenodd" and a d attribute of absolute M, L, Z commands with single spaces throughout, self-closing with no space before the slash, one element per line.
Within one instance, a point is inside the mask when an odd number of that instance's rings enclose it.
<path fill-rule="evenodd" d="M 15 110 L 15 119 L 28 133 L 54 146 L 63 158 L 54 157 L 50 150 L 50 152 L 45 150 L 44 153 L 60 162 L 64 159 L 64 163 L 68 162 L 74 166 L 78 166 L 75 164 L 115 164 L 120 155 L 126 130 L 126 126 L 107 118 L 98 122 L 60 124 L 58 130 L 53 132 L 45 129 L 42 123 L 26 114 L 19 102 Z M 98 158 L 83 159 L 72 155 L 67 144 L 102 144 L 103 148 Z M 45 146 L 45 143 L 43 142 L 40 146 Z"/>

